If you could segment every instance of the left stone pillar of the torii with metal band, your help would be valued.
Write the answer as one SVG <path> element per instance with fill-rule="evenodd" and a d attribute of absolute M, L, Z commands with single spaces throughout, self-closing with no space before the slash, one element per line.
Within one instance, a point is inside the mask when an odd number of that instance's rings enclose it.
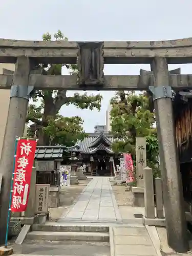
<path fill-rule="evenodd" d="M 17 58 L 0 162 L 0 173 L 3 174 L 0 197 L 0 244 L 5 243 L 6 237 L 15 139 L 16 136 L 23 136 L 24 134 L 29 94 L 32 90 L 28 87 L 30 69 L 30 59 L 28 57 Z"/>

